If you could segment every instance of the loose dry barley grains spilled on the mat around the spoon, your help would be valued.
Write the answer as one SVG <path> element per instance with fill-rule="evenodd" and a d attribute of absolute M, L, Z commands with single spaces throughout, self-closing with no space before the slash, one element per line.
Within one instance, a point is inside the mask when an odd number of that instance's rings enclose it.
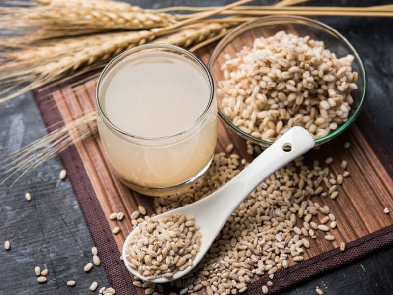
<path fill-rule="evenodd" d="M 309 168 L 302 160 L 300 157 L 281 168 L 250 194 L 233 212 L 198 266 L 171 283 L 178 290 L 172 294 L 196 295 L 203 287 L 208 295 L 242 293 L 255 275 L 267 274 L 272 280 L 277 270 L 302 261 L 305 248 L 310 247 L 309 238 L 335 239 L 336 217 L 323 205 L 322 198 L 337 198 L 340 177 L 328 167 L 320 167 L 318 161 Z M 326 162 L 330 164 L 331 158 Z M 208 172 L 190 191 L 154 198 L 157 212 L 204 198 L 234 177 L 240 165 L 248 163 L 236 154 L 216 154 Z M 311 197 L 320 197 L 321 201 L 312 202 Z M 145 288 L 147 295 L 168 294 L 161 284 L 140 281 L 134 284 Z M 261 294 L 267 293 L 272 284 L 268 281 Z"/>

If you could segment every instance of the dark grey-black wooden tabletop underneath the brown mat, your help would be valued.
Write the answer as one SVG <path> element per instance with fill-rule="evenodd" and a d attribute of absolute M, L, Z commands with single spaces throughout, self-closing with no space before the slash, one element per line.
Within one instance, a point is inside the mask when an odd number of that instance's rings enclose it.
<path fill-rule="evenodd" d="M 128 0 L 134 5 L 159 8 L 176 5 L 223 5 L 230 0 Z M 266 4 L 267 1 L 256 1 Z M 271 2 L 269 2 L 271 3 Z M 323 1 L 313 1 L 322 5 Z M 335 5 L 376 5 L 388 1 L 335 1 Z M 355 46 L 368 72 L 366 109 L 383 137 L 393 143 L 393 19 L 319 18 Z M 0 161 L 7 154 L 45 134 L 44 124 L 30 93 L 0 105 Z M 392 144 L 391 144 L 392 147 Z M 58 179 L 58 158 L 29 173 L 13 187 L 0 185 L 0 295 L 93 294 L 89 286 L 108 282 L 103 266 L 84 272 L 93 246 L 69 181 Z M 1 176 L 0 179 L 2 179 Z M 29 191 L 32 201 L 25 200 Z M 11 250 L 2 244 L 11 241 Z M 49 269 L 48 282 L 38 284 L 34 267 Z M 66 281 L 74 279 L 75 287 Z M 332 295 L 393 294 L 393 247 L 361 261 L 311 278 L 285 294 L 316 294 L 323 286 Z M 97 292 L 96 292 L 97 293 Z"/>

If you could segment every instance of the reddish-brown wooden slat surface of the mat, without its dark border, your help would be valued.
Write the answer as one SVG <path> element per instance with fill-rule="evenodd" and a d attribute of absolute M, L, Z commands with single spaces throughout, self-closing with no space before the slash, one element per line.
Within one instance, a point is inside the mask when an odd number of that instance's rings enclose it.
<path fill-rule="evenodd" d="M 198 54 L 206 60 L 208 51 L 200 51 Z M 57 90 L 52 94 L 65 121 L 94 110 L 95 85 L 96 79 L 92 79 L 77 86 Z M 351 144 L 349 149 L 343 148 L 346 141 Z M 248 161 L 252 160 L 246 152 L 245 140 L 227 129 L 220 121 L 217 151 L 225 150 L 229 143 L 234 144 L 235 153 Z M 76 148 L 101 207 L 108 217 L 110 227 L 119 226 L 121 229 L 120 233 L 114 236 L 121 249 L 125 237 L 132 229 L 130 214 L 138 205 L 143 205 L 148 214 L 153 213 L 152 199 L 129 190 L 116 179 L 105 160 L 98 136 L 77 143 Z M 305 258 L 331 250 L 338 247 L 340 242 L 353 241 L 393 223 L 392 215 L 383 212 L 385 207 L 393 208 L 393 181 L 356 125 L 325 144 L 320 151 L 309 152 L 307 161 L 312 163 L 314 159 L 318 159 L 323 163 L 327 157 L 334 158 L 330 168 L 336 174 L 343 172 L 340 163 L 346 160 L 351 177 L 346 178 L 344 184 L 339 186 L 339 197 L 336 200 L 321 197 L 313 199 L 331 208 L 332 213 L 337 217 L 338 226 L 333 230 L 336 236 L 334 242 L 326 241 L 322 233 L 317 233 L 318 238 L 311 240 L 311 247 L 306 250 Z M 109 215 L 112 212 L 124 212 L 126 217 L 121 222 L 110 221 Z M 301 225 L 301 221 L 298 222 Z M 142 291 L 139 290 L 139 293 L 142 294 Z"/>

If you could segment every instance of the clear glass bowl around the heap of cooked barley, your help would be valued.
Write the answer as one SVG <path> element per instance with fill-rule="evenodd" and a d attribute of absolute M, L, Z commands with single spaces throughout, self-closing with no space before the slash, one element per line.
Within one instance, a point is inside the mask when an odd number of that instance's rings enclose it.
<path fill-rule="evenodd" d="M 296 34 L 298 36 L 310 36 L 314 40 L 320 40 L 325 43 L 325 48 L 337 55 L 337 58 L 351 54 L 354 56 L 352 70 L 358 72 L 356 85 L 358 89 L 351 91 L 353 104 L 346 122 L 328 135 L 316 139 L 315 145 L 320 145 L 336 137 L 346 130 L 352 122 L 358 117 L 365 102 L 367 90 L 367 76 L 365 67 L 355 48 L 335 29 L 321 22 L 300 17 L 300 16 L 267 16 L 240 25 L 230 31 L 216 46 L 208 61 L 208 68 L 213 76 L 215 89 L 218 89 L 218 81 L 224 78 L 221 66 L 225 62 L 225 55 L 229 54 L 234 57 L 235 52 L 239 52 L 244 46 L 253 47 L 254 39 L 264 36 L 269 37 L 279 31 Z M 273 142 L 256 138 L 236 127 L 230 118 L 227 118 L 220 110 L 221 97 L 215 94 L 219 106 L 219 116 L 234 132 L 255 144 L 269 147 Z"/>

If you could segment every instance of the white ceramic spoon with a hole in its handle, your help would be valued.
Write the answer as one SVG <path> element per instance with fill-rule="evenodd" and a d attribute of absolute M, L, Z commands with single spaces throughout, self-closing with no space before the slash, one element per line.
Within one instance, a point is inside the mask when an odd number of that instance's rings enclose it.
<path fill-rule="evenodd" d="M 290 151 L 283 147 L 290 146 Z M 257 187 L 266 177 L 276 172 L 282 166 L 314 147 L 314 139 L 306 129 L 292 127 L 281 136 L 274 144 L 261 153 L 253 162 L 243 169 L 238 175 L 228 181 L 223 187 L 210 196 L 193 204 L 170 210 L 154 216 L 158 219 L 165 215 L 182 214 L 192 215 L 202 233 L 200 251 L 193 260 L 193 265 L 183 271 L 174 273 L 173 277 L 150 280 L 154 283 L 166 283 L 176 280 L 192 270 L 209 250 L 211 244 L 225 225 L 229 216 L 239 204 Z M 127 269 L 141 280 L 148 281 L 146 277 L 132 269 L 127 264 L 126 249 L 135 229 L 127 236 L 123 245 L 123 258 Z"/>

